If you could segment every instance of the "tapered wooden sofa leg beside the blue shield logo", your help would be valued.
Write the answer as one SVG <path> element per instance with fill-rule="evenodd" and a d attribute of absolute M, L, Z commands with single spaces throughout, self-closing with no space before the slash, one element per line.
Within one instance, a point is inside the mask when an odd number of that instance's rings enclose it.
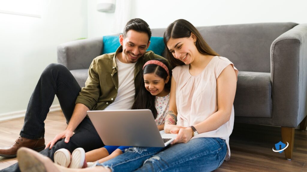
<path fill-rule="evenodd" d="M 291 160 L 294 146 L 294 128 L 282 127 L 282 142 L 285 144 L 286 142 L 289 143 L 288 148 L 285 149 L 285 157 L 286 159 Z"/>

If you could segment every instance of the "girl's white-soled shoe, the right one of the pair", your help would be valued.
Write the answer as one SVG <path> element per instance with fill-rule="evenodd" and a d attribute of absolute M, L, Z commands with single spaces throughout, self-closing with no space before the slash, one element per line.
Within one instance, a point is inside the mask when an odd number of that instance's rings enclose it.
<path fill-rule="evenodd" d="M 83 148 L 76 148 L 72 152 L 72 159 L 69 168 L 86 168 L 85 151 Z"/>

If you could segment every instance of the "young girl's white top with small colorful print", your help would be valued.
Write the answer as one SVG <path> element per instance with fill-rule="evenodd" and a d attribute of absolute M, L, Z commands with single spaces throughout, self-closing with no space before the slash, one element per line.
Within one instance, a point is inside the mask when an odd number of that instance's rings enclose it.
<path fill-rule="evenodd" d="M 154 106 L 157 110 L 157 118 L 155 119 L 156 124 L 164 124 L 165 116 L 169 110 L 169 94 L 164 97 L 156 96 Z"/>

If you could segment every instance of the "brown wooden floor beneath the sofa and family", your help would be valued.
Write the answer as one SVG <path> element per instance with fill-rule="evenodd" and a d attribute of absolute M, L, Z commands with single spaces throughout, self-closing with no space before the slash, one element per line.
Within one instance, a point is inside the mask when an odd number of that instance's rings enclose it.
<path fill-rule="evenodd" d="M 0 122 L 0 147 L 9 146 L 19 136 L 23 119 Z M 49 113 L 45 121 L 46 143 L 66 127 L 62 112 Z M 295 130 L 292 160 L 284 153 L 273 152 L 281 141 L 279 127 L 235 123 L 230 137 L 231 158 L 215 172 L 307 172 L 307 131 Z M 16 163 L 16 159 L 0 157 L 0 169 Z"/>

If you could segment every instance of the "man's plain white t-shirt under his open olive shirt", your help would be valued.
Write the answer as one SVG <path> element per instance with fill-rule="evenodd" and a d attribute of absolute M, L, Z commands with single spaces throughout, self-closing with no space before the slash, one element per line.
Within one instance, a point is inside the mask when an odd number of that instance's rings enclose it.
<path fill-rule="evenodd" d="M 134 103 L 135 87 L 134 87 L 134 67 L 135 63 L 122 63 L 116 57 L 117 74 L 118 74 L 118 90 L 117 96 L 113 103 L 104 110 L 127 110 L 131 109 Z"/>

